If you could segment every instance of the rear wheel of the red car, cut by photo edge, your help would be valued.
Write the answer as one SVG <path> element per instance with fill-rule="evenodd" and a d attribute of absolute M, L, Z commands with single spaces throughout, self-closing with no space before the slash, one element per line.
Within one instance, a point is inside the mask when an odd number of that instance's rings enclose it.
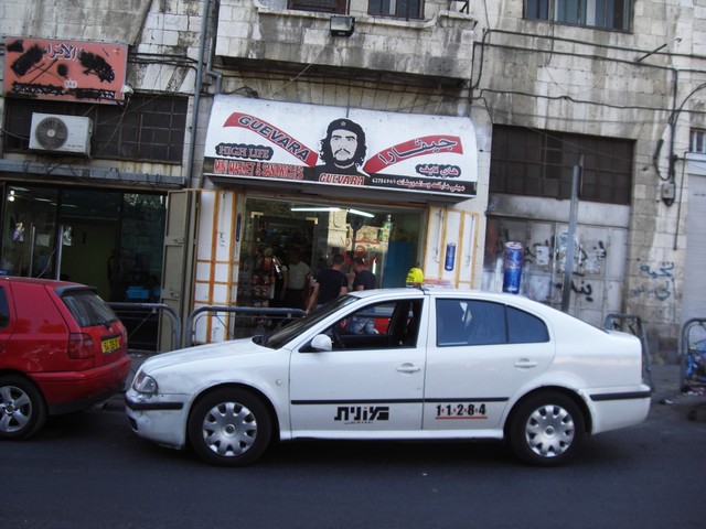
<path fill-rule="evenodd" d="M 0 439 L 28 439 L 45 422 L 46 404 L 36 386 L 23 377 L 0 376 Z"/>

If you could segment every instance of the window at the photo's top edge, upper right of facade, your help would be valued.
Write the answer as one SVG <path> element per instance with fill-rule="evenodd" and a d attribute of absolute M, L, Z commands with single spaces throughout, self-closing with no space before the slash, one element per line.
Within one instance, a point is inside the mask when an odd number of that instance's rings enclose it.
<path fill-rule="evenodd" d="M 525 19 L 629 31 L 632 0 L 525 0 Z"/>

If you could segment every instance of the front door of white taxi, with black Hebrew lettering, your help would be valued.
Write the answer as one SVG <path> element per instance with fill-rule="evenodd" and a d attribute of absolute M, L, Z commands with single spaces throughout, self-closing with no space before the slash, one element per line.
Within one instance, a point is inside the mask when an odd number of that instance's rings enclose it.
<path fill-rule="evenodd" d="M 341 327 L 352 322 L 347 317 L 328 331 L 331 350 L 303 347 L 292 353 L 295 438 L 375 439 L 384 438 L 384 432 L 421 429 L 425 348 L 418 345 L 417 331 L 421 306 L 421 296 L 367 306 L 356 317 L 374 313 L 374 334 L 346 334 Z"/>

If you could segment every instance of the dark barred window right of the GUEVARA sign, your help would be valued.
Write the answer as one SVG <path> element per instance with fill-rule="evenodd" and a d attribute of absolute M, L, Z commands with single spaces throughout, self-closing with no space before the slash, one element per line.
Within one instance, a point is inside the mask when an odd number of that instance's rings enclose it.
<path fill-rule="evenodd" d="M 490 191 L 570 198 L 574 166 L 581 156 L 581 199 L 630 204 L 632 141 L 520 127 L 493 129 Z"/>

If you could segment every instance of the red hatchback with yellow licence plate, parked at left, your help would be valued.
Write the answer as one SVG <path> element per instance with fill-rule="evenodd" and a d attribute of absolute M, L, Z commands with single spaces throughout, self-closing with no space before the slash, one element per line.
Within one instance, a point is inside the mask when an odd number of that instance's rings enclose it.
<path fill-rule="evenodd" d="M 107 399 L 129 369 L 126 330 L 95 289 L 0 277 L 0 439 Z"/>

